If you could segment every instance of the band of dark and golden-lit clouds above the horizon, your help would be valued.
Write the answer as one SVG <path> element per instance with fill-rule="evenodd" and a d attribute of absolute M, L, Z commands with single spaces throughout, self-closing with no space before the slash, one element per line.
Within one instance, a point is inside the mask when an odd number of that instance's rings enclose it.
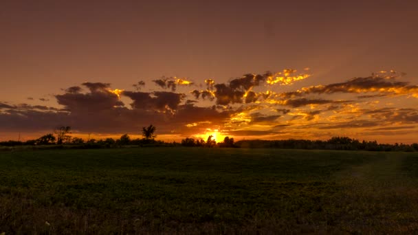
<path fill-rule="evenodd" d="M 142 126 L 154 124 L 159 135 L 179 137 L 215 129 L 235 137 L 409 136 L 418 124 L 418 86 L 402 76 L 379 72 L 286 92 L 278 87 L 293 88 L 309 74 L 285 69 L 201 84 L 163 77 L 139 81 L 132 90 L 84 82 L 56 94 L 59 107 L 0 102 L 0 128 L 35 132 L 65 125 L 80 133 L 118 134 L 140 133 Z"/>

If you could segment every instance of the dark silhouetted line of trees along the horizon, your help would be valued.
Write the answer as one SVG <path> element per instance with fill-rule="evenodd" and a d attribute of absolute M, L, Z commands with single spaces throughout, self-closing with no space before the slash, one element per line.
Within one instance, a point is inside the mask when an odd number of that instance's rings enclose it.
<path fill-rule="evenodd" d="M 54 130 L 54 134 L 48 133 L 38 139 L 30 139 L 26 142 L 9 140 L 0 142 L 0 146 L 48 146 L 50 148 L 120 148 L 122 146 L 185 146 L 206 148 L 283 148 L 283 149 L 322 149 L 322 150 L 368 150 L 368 151 L 418 151 L 418 144 L 379 144 L 376 141 L 361 141 L 350 137 L 332 137 L 328 140 L 309 139 L 283 139 L 263 140 L 251 139 L 234 141 L 232 137 L 225 137 L 223 142 L 216 142 L 213 136 L 208 136 L 206 141 L 201 138 L 186 137 L 181 142 L 163 142 L 155 140 L 156 127 L 152 124 L 142 128 L 143 138 L 131 139 L 128 134 L 119 139 L 82 139 L 72 137 L 70 126 L 61 126 Z"/>

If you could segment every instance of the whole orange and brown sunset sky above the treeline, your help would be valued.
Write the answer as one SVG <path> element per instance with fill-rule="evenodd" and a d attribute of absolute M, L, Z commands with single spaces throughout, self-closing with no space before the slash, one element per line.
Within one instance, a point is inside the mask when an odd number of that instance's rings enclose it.
<path fill-rule="evenodd" d="M 0 140 L 412 143 L 417 1 L 0 3 Z"/>

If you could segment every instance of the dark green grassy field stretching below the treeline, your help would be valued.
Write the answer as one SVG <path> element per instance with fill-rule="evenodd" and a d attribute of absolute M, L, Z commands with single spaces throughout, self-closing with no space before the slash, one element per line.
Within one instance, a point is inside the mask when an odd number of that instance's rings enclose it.
<path fill-rule="evenodd" d="M 418 233 L 418 153 L 0 152 L 0 234 Z"/>

